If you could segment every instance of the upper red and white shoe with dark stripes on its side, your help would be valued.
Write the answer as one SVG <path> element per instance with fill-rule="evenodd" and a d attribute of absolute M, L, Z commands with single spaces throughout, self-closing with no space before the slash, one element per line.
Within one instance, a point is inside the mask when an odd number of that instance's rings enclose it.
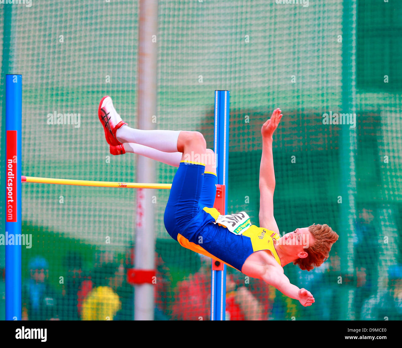
<path fill-rule="evenodd" d="M 112 98 L 108 95 L 103 97 L 99 103 L 98 117 L 105 130 L 105 137 L 108 144 L 111 146 L 121 145 L 122 143 L 116 139 L 116 131 L 127 123 L 123 122 L 113 106 Z"/>

